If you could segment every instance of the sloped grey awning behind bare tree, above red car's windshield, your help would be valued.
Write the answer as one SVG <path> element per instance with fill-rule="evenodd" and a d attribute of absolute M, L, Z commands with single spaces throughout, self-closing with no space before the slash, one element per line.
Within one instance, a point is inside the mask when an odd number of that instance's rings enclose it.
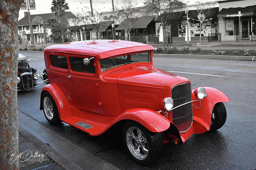
<path fill-rule="evenodd" d="M 131 28 L 147 28 L 148 24 L 154 19 L 154 17 L 139 17 L 137 20 L 130 21 L 128 19 L 125 19 L 122 21 L 122 23 L 116 27 L 116 30 L 124 30 L 128 29 L 130 27 L 130 23 L 132 23 Z"/>

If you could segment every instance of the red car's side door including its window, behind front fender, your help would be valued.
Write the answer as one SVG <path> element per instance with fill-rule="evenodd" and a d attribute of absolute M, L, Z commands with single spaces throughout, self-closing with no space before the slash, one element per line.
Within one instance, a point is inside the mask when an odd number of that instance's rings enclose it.
<path fill-rule="evenodd" d="M 99 74 L 95 69 L 95 60 L 91 57 L 67 54 L 70 65 L 70 77 L 67 79 L 69 91 L 72 93 L 71 105 L 94 113 L 105 114 L 99 91 Z M 84 58 L 90 63 L 84 65 Z"/>

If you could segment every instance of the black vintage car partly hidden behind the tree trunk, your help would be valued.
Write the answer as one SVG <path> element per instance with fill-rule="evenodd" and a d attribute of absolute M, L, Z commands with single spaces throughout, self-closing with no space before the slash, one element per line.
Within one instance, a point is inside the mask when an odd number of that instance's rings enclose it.
<path fill-rule="evenodd" d="M 31 91 L 33 88 L 45 84 L 48 81 L 46 71 L 43 74 L 37 73 L 36 69 L 29 66 L 30 59 L 23 54 L 18 56 L 18 69 L 17 69 L 17 91 Z M 37 80 L 44 77 L 42 81 L 37 84 Z"/>

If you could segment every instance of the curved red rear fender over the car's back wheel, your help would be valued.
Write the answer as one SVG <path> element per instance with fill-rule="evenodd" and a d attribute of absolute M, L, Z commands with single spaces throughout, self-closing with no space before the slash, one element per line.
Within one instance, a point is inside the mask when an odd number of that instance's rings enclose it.
<path fill-rule="evenodd" d="M 48 92 L 53 97 L 57 108 L 59 117 L 62 120 L 64 117 L 69 116 L 70 114 L 70 103 L 67 101 L 66 97 L 64 96 L 63 92 L 60 88 L 58 88 L 55 83 L 48 84 L 44 86 L 44 88 L 41 91 L 41 97 L 40 97 L 40 110 L 43 109 L 43 101 L 42 101 L 42 94 L 44 92 Z"/>

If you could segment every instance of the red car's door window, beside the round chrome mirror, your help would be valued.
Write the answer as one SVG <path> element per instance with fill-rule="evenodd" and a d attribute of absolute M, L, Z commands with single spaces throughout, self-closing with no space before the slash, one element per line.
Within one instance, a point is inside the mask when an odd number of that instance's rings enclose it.
<path fill-rule="evenodd" d="M 81 73 L 95 73 L 94 60 L 91 59 L 88 65 L 85 65 L 82 57 L 70 57 L 70 65 L 72 71 Z"/>

